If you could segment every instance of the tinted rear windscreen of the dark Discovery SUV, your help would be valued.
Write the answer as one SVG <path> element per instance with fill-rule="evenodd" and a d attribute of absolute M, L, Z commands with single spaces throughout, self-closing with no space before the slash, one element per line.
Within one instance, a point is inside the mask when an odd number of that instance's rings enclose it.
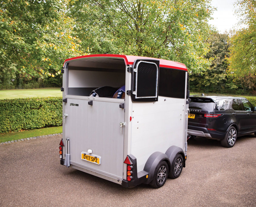
<path fill-rule="evenodd" d="M 188 107 L 190 109 L 201 109 L 213 111 L 214 100 L 212 99 L 202 99 L 202 98 L 191 98 Z"/>

